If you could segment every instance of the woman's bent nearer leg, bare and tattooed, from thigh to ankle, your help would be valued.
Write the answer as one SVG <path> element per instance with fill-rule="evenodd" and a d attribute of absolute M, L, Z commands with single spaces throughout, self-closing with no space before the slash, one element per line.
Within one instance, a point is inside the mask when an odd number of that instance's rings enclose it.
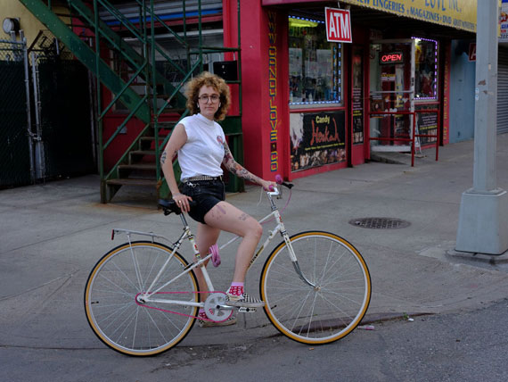
<path fill-rule="evenodd" d="M 217 203 L 205 215 L 205 221 L 209 227 L 242 237 L 236 253 L 233 282 L 243 283 L 252 255 L 263 235 L 263 228 L 258 220 L 227 202 Z"/>

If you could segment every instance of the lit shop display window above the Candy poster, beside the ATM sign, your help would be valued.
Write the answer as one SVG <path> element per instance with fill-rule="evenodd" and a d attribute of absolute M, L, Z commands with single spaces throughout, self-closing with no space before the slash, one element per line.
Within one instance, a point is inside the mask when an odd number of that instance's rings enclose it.
<path fill-rule="evenodd" d="M 290 105 L 342 104 L 342 46 L 326 41 L 324 21 L 290 16 Z"/>

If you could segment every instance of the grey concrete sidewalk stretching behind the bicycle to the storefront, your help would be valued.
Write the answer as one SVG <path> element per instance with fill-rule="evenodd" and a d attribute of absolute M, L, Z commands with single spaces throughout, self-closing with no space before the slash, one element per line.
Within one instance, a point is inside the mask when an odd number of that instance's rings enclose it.
<path fill-rule="evenodd" d="M 404 314 L 475 309 L 508 296 L 508 255 L 455 253 L 461 195 L 472 186 L 473 142 L 433 149 L 407 164 L 370 162 L 294 181 L 283 211 L 290 234 L 321 229 L 345 237 L 363 253 L 373 280 L 367 320 Z M 497 186 L 508 190 L 508 134 L 497 137 Z M 284 190 L 284 200 L 289 192 Z M 227 195 L 227 201 L 261 218 L 268 212 L 258 187 Z M 111 228 L 181 232 L 174 215 L 163 216 L 149 191 L 120 190 L 113 203 L 99 203 L 99 179 L 86 176 L 0 191 L 0 346 L 104 349 L 88 328 L 83 292 L 94 263 L 125 237 L 111 241 Z M 368 229 L 350 220 L 407 220 L 398 229 Z M 193 226 L 195 227 L 195 226 Z M 508 234 L 508 233 L 506 233 Z M 228 237 L 223 234 L 219 244 Z M 279 240 L 274 242 L 278 243 Z M 276 244 L 276 243 L 274 243 Z M 213 269 L 217 290 L 233 275 L 236 244 L 221 252 Z M 248 275 L 258 294 L 266 253 Z M 489 262 L 490 261 L 490 262 Z M 264 312 L 239 315 L 225 328 L 197 325 L 181 345 L 242 344 L 277 331 Z"/>

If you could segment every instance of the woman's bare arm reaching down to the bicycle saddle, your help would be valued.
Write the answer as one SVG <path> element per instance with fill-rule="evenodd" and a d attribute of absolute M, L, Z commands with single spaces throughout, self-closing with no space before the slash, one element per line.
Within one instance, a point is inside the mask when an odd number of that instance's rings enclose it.
<path fill-rule="evenodd" d="M 178 123 L 169 137 L 168 145 L 160 155 L 160 164 L 164 178 L 168 183 L 169 191 L 176 203 L 182 204 L 180 208 L 184 212 L 189 211 L 189 204 L 187 200 L 192 200 L 190 196 L 180 194 L 178 185 L 176 184 L 175 171 L 173 170 L 173 158 L 180 148 L 187 142 L 187 133 L 185 133 L 184 125 Z"/>

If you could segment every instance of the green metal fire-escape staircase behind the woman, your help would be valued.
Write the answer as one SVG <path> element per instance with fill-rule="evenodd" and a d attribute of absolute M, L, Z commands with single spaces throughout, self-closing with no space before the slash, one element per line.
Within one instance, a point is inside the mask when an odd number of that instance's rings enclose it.
<path fill-rule="evenodd" d="M 107 203 L 119 191 L 128 185 L 152 186 L 159 197 L 167 197 L 168 187 L 163 179 L 160 153 L 168 142 L 172 129 L 178 120 L 187 115 L 186 99 L 181 93 L 184 83 L 196 73 L 203 70 L 203 55 L 211 53 L 238 54 L 240 63 L 240 34 L 237 48 L 205 47 L 201 45 L 201 0 L 199 6 L 199 47 L 192 48 L 186 38 L 185 1 L 183 4 L 184 33 L 176 33 L 154 12 L 153 0 L 135 0 L 139 7 L 139 22 L 127 20 L 107 0 L 19 0 L 32 12 L 45 27 L 53 33 L 82 62 L 96 78 L 96 101 L 98 105 L 97 123 L 99 126 L 99 169 L 101 176 L 101 201 Z M 53 3 L 53 4 L 52 4 Z M 69 10 L 70 23 L 62 21 L 61 14 L 55 12 L 56 5 L 63 5 Z M 238 2 L 238 7 L 240 2 Z M 111 29 L 99 17 L 100 12 L 107 12 L 119 21 L 121 31 Z M 240 10 L 238 8 L 238 14 Z M 240 23 L 240 20 L 238 21 Z M 74 32 L 76 27 L 88 31 L 88 40 Z M 165 50 L 155 41 L 156 31 L 160 29 L 176 38 L 186 52 L 186 65 L 171 60 Z M 91 37 L 91 38 L 90 38 Z M 137 51 L 127 44 L 126 38 L 134 40 L 141 49 Z M 169 81 L 156 69 L 156 56 L 178 73 L 177 83 Z M 111 61 L 112 57 L 112 61 Z M 191 62 L 193 62 L 191 64 Z M 239 73 L 241 71 L 239 70 Z M 239 103 L 242 102 L 242 81 L 231 81 L 239 84 Z M 111 90 L 112 100 L 102 107 L 101 85 Z M 111 111 L 121 103 L 125 109 L 125 119 L 110 137 L 104 137 L 103 121 Z M 242 107 L 240 107 L 240 114 Z M 117 115 L 117 114 L 115 114 Z M 104 154 L 111 149 L 111 144 L 119 138 L 120 132 L 129 122 L 141 121 L 143 129 L 128 145 L 124 154 L 111 168 L 104 168 Z M 138 122 L 139 123 L 139 122 Z M 238 162 L 243 160 L 241 116 L 227 117 L 222 123 L 229 145 Z M 176 178 L 180 169 L 174 162 Z M 240 191 L 243 182 L 232 176 L 227 188 L 229 191 Z"/>

